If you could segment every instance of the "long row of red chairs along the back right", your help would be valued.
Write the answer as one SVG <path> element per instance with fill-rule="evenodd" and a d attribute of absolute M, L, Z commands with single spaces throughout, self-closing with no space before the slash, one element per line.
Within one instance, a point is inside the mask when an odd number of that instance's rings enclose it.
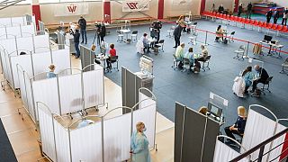
<path fill-rule="evenodd" d="M 235 22 L 235 23 L 244 23 L 247 25 L 256 26 L 260 28 L 266 28 L 266 29 L 270 29 L 274 31 L 288 32 L 287 26 L 284 26 L 281 24 L 266 23 L 266 22 L 261 22 L 257 20 L 246 19 L 243 17 L 237 17 L 234 15 L 220 14 L 220 13 L 207 12 L 207 11 L 204 11 L 202 15 L 212 17 L 212 18 L 218 18 L 222 20 L 228 20 L 230 22 Z"/>

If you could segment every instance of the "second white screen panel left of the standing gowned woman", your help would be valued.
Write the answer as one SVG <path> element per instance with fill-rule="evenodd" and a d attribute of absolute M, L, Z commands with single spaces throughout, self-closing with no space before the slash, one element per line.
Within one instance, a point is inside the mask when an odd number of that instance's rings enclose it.
<path fill-rule="evenodd" d="M 102 161 L 101 122 L 70 131 L 72 161 Z"/>

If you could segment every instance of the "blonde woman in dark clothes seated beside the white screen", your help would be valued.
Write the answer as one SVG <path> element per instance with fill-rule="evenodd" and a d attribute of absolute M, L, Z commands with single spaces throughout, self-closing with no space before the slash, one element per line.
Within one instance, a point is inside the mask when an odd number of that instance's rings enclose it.
<path fill-rule="evenodd" d="M 247 116 L 246 116 L 245 107 L 244 106 L 238 106 L 237 121 L 233 125 L 231 125 L 229 127 L 225 127 L 224 130 L 226 132 L 226 135 L 231 139 L 235 139 L 233 134 L 238 134 L 239 136 L 242 137 L 244 135 L 246 120 L 247 120 Z M 234 142 L 231 141 L 230 139 L 228 139 L 228 143 L 232 144 Z"/>

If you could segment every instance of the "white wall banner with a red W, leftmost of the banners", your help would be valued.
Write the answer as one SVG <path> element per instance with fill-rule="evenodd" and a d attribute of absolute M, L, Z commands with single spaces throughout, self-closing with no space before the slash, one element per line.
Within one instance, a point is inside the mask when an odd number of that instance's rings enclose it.
<path fill-rule="evenodd" d="M 55 16 L 71 16 L 89 14 L 89 5 L 84 3 L 57 4 Z"/>

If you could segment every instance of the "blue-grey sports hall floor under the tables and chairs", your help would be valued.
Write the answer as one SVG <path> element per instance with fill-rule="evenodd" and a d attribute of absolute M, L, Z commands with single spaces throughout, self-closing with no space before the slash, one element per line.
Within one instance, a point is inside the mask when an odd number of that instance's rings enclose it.
<path fill-rule="evenodd" d="M 198 29 L 207 31 L 216 31 L 217 26 L 220 23 L 214 23 L 206 20 L 197 20 Z M 154 53 L 148 54 L 155 61 L 154 66 L 154 86 L 153 92 L 157 96 L 157 111 L 166 116 L 171 121 L 174 121 L 175 116 L 175 101 L 184 103 L 185 105 L 197 110 L 202 105 L 207 105 L 209 101 L 210 92 L 219 94 L 220 96 L 229 100 L 229 106 L 227 110 L 224 110 L 226 118 L 225 125 L 232 124 L 237 118 L 237 107 L 243 105 L 248 108 L 249 104 L 257 103 L 266 106 L 278 118 L 287 118 L 288 116 L 288 76 L 280 74 L 282 69 L 281 64 L 284 62 L 284 58 L 288 56 L 282 54 L 283 58 L 273 58 L 266 56 L 267 49 L 265 49 L 265 56 L 258 57 L 252 53 L 253 46 L 249 46 L 248 56 L 263 60 L 264 67 L 266 68 L 270 76 L 274 76 L 271 84 L 272 93 L 266 93 L 261 95 L 260 98 L 247 96 L 246 98 L 238 98 L 238 96 L 232 93 L 232 85 L 235 76 L 238 76 L 239 72 L 247 67 L 247 59 L 244 61 L 234 59 L 234 50 L 238 49 L 241 44 L 246 43 L 230 42 L 229 44 L 223 44 L 214 42 L 214 35 L 209 34 L 207 43 L 209 44 L 208 50 L 211 55 L 211 70 L 201 71 L 199 74 L 190 74 L 173 70 L 171 67 L 173 64 L 172 55 L 175 53 L 175 49 L 172 48 L 175 44 L 174 38 L 168 38 L 167 30 L 173 24 L 164 23 L 161 30 L 160 39 L 165 39 L 164 50 L 165 52 L 159 52 L 158 55 Z M 234 25 L 234 23 L 232 23 Z M 238 24 L 239 26 L 239 24 Z M 235 38 L 241 40 L 249 40 L 251 42 L 258 42 L 263 40 L 264 32 L 252 31 L 251 29 L 241 29 L 240 27 L 228 26 L 228 31 L 236 31 Z M 131 31 L 138 30 L 139 37 L 148 32 L 148 25 L 133 26 Z M 132 72 L 139 71 L 139 58 L 140 54 L 137 53 L 135 45 L 136 42 L 126 44 L 124 42 L 117 42 L 115 29 L 109 29 L 110 35 L 107 35 L 104 40 L 108 43 L 114 43 L 117 53 L 119 55 L 120 67 L 128 67 Z M 191 34 L 183 33 L 181 41 L 185 43 L 185 49 L 193 47 L 195 52 L 200 51 L 201 42 L 197 42 L 196 45 L 188 44 Z M 94 37 L 94 31 L 88 32 L 88 44 L 92 42 Z M 281 44 L 284 44 L 284 51 L 288 51 L 287 37 L 275 37 L 274 39 L 280 40 Z M 198 32 L 197 40 L 204 42 L 205 33 Z M 121 72 L 113 71 L 112 73 L 105 74 L 105 76 L 112 79 L 118 85 L 121 85 Z M 259 84 L 258 86 L 260 86 Z"/>

